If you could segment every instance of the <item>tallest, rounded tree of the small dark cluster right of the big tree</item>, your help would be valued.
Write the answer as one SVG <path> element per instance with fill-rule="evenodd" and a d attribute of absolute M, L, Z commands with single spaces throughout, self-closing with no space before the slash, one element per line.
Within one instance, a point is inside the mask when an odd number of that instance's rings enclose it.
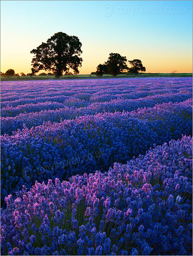
<path fill-rule="evenodd" d="M 122 71 L 128 69 L 126 62 L 126 57 L 123 57 L 120 54 L 111 53 L 104 65 L 106 65 L 109 74 L 116 76 L 117 74 L 121 74 Z"/>

